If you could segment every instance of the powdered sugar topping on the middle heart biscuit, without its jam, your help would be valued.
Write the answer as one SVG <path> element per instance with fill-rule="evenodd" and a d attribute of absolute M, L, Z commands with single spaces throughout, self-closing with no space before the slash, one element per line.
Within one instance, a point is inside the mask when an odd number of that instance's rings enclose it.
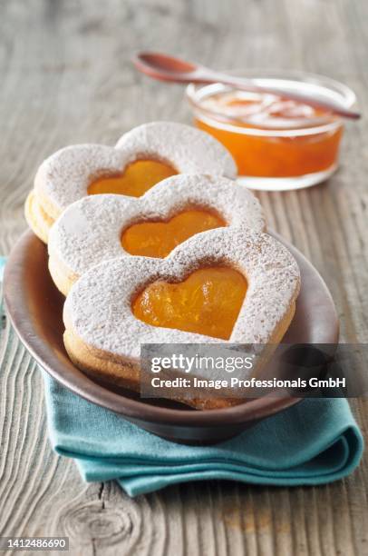
<path fill-rule="evenodd" d="M 93 265 L 126 253 L 121 233 L 132 223 L 169 220 L 190 207 L 218 213 L 228 226 L 246 225 L 261 232 L 263 210 L 242 185 L 224 177 L 179 174 L 152 187 L 143 197 L 103 194 L 84 197 L 54 223 L 49 253 L 70 273 L 82 275 Z"/>

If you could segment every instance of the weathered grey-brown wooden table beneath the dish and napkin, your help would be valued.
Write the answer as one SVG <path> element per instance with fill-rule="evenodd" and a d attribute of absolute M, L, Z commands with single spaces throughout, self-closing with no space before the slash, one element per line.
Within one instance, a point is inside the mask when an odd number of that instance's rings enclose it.
<path fill-rule="evenodd" d="M 350 84 L 368 112 L 364 0 L 5 0 L 0 8 L 0 253 L 23 232 L 38 164 L 65 144 L 114 144 L 131 126 L 189 121 L 179 86 L 137 74 L 141 48 L 218 68 L 296 68 Z M 315 264 L 344 342 L 367 342 L 368 130 L 349 126 L 328 184 L 260 194 L 269 224 Z M 73 554 L 366 554 L 365 458 L 318 488 L 202 482 L 131 500 L 86 485 L 47 441 L 43 386 L 6 320 L 0 336 L 0 531 L 68 535 Z M 364 402 L 353 409 L 363 432 Z"/>

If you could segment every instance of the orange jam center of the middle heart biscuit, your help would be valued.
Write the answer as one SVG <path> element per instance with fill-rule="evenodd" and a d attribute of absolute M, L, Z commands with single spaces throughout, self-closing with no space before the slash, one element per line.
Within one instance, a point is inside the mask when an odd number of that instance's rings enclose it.
<path fill-rule="evenodd" d="M 121 245 L 133 255 L 163 258 L 195 233 L 225 225 L 215 213 L 193 209 L 176 214 L 169 222 L 133 224 L 122 233 Z"/>

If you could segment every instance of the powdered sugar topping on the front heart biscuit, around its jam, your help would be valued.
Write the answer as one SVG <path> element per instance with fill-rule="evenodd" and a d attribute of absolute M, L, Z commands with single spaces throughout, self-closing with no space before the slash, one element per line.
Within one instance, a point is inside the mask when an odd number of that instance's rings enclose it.
<path fill-rule="evenodd" d="M 66 298 L 66 329 L 92 348 L 130 360 L 139 359 L 140 343 L 225 343 L 150 326 L 131 312 L 133 296 L 148 283 L 182 281 L 196 268 L 214 263 L 228 263 L 247 277 L 247 295 L 228 342 L 268 343 L 295 302 L 300 273 L 282 243 L 244 227 L 199 233 L 166 259 L 126 256 L 93 267 Z"/>

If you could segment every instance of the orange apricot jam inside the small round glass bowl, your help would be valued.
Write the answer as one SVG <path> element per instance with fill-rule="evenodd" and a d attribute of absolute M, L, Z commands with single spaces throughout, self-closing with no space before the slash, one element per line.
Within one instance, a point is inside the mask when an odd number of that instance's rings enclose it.
<path fill-rule="evenodd" d="M 336 162 L 342 126 L 325 132 L 315 127 L 313 132 L 313 123 L 329 115 L 323 110 L 276 95 L 239 91 L 208 95 L 201 107 L 221 114 L 220 120 L 198 114 L 195 124 L 228 149 L 239 175 L 295 177 L 324 172 Z M 308 127 L 308 133 L 297 133 Z"/>

